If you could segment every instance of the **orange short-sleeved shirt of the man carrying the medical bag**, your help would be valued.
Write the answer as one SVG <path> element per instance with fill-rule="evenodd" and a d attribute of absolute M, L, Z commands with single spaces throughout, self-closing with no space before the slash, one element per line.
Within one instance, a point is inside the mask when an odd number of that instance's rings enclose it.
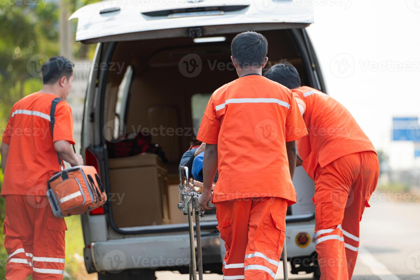
<path fill-rule="evenodd" d="M 60 171 L 53 142 L 74 144 L 73 117 L 66 101 L 55 108 L 54 140 L 50 127 L 54 94 L 35 92 L 13 105 L 3 134 L 10 145 L 1 195 L 46 195 L 47 181 Z"/>

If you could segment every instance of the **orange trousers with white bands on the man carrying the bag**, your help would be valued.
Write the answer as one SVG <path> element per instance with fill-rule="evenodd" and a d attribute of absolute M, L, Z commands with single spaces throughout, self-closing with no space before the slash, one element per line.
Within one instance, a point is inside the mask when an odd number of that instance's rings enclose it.
<path fill-rule="evenodd" d="M 66 222 L 46 196 L 5 196 L 6 279 L 63 279 Z"/>

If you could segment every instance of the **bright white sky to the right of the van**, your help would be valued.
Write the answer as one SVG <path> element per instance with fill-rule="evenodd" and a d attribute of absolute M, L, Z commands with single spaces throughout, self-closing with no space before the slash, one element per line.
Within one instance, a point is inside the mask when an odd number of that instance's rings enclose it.
<path fill-rule="evenodd" d="M 393 116 L 420 117 L 420 0 L 312 0 L 307 30 L 328 94 L 356 118 L 391 167 L 420 167 L 414 144 L 391 142 Z"/>

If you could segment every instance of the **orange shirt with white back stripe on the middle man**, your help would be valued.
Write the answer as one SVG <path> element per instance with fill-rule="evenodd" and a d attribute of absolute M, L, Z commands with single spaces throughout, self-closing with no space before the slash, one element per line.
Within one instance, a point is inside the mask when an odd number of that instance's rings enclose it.
<path fill-rule="evenodd" d="M 217 89 L 197 136 L 218 144 L 213 202 L 265 196 L 296 202 L 286 141 L 306 134 L 297 103 L 285 86 L 249 75 Z"/>

